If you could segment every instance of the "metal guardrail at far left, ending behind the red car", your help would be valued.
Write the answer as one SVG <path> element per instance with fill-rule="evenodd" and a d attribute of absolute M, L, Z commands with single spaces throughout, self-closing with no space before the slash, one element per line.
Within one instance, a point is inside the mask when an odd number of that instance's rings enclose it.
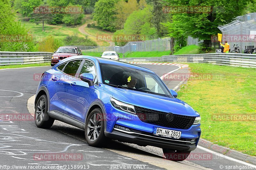
<path fill-rule="evenodd" d="M 6 52 L 0 51 L 0 65 L 46 63 L 51 61 L 50 52 Z"/>

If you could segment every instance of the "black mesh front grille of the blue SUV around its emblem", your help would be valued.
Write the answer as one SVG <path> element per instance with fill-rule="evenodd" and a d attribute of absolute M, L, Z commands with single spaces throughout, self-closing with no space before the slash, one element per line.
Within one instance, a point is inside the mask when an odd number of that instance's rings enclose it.
<path fill-rule="evenodd" d="M 173 115 L 173 120 L 167 121 L 166 119 L 166 112 L 161 112 L 157 110 L 151 110 L 148 108 L 138 107 L 135 106 L 136 113 L 139 119 L 142 122 L 159 125 L 168 128 L 175 128 L 175 129 L 188 129 L 194 123 L 196 117 L 192 116 L 183 116 L 183 115 Z"/>

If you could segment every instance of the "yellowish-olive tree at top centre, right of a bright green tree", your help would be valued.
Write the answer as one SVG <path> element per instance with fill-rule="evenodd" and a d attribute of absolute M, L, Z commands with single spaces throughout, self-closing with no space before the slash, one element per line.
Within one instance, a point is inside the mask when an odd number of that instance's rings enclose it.
<path fill-rule="evenodd" d="M 133 12 L 139 9 L 139 4 L 137 0 L 128 0 L 128 2 L 124 0 L 120 0 L 116 5 L 116 29 L 123 29 L 124 23 L 127 17 Z"/>

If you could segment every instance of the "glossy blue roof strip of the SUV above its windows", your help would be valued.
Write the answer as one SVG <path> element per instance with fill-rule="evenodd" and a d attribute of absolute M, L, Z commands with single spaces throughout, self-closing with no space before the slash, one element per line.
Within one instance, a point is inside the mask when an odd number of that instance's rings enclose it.
<path fill-rule="evenodd" d="M 69 60 L 74 60 L 74 59 L 89 59 L 92 60 L 94 63 L 98 62 L 98 63 L 104 63 L 104 64 L 113 64 L 113 65 L 119 65 L 119 66 L 124 66 L 124 67 L 129 67 L 129 68 L 134 68 L 134 69 L 138 69 L 138 70 L 142 70 L 142 71 L 147 71 L 147 72 L 151 72 L 154 73 L 153 71 L 145 68 L 145 67 L 141 67 L 135 64 L 130 64 L 130 63 L 125 63 L 125 62 L 121 62 L 121 61 L 117 61 L 117 60 L 111 60 L 111 59 L 107 59 L 107 58 L 101 58 L 101 57 L 92 57 L 89 55 L 76 55 L 76 56 L 72 56 L 72 57 L 68 57 L 65 58 L 63 60 L 61 60 L 58 64 L 56 64 L 57 66 L 65 63 Z"/>

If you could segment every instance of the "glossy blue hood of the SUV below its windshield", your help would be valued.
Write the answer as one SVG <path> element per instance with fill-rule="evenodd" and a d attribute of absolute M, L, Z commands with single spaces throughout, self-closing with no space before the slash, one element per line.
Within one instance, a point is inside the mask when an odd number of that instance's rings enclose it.
<path fill-rule="evenodd" d="M 109 85 L 105 85 L 104 90 L 111 93 L 114 99 L 134 106 L 178 115 L 199 116 L 191 106 L 176 98 L 116 88 Z"/>

